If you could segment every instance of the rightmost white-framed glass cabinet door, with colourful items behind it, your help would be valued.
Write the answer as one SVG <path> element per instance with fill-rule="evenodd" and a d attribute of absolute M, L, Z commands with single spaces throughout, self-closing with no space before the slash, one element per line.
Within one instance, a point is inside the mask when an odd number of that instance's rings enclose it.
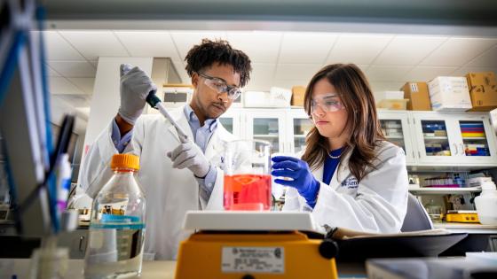
<path fill-rule="evenodd" d="M 454 143 L 462 164 L 494 164 L 496 150 L 489 116 L 480 113 L 454 115 Z"/>

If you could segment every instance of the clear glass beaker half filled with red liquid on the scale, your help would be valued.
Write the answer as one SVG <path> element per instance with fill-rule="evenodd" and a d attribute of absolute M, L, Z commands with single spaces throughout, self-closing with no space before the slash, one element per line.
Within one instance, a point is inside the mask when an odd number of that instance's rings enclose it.
<path fill-rule="evenodd" d="M 239 140 L 226 143 L 225 210 L 271 208 L 271 143 Z"/>

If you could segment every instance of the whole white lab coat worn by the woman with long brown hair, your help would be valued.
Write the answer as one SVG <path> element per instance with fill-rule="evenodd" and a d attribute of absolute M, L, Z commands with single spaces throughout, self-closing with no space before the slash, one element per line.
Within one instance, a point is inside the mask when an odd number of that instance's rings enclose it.
<path fill-rule="evenodd" d="M 319 227 L 326 224 L 367 232 L 398 233 L 407 209 L 406 154 L 388 142 L 383 142 L 376 151 L 378 156 L 374 164 L 377 169 L 367 169 L 368 174 L 359 184 L 350 172 L 350 157 L 347 156 L 336 168 L 329 185 L 321 182 L 323 166 L 312 171 L 320 182 L 314 209 L 295 188 L 289 187 L 283 210 L 312 210 Z"/>

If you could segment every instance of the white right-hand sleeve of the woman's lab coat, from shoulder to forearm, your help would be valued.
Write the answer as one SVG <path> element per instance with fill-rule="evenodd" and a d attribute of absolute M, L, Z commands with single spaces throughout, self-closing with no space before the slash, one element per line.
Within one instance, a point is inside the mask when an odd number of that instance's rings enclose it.
<path fill-rule="evenodd" d="M 398 233 L 406 216 L 406 155 L 397 146 L 381 151 L 381 162 L 360 182 L 356 195 L 339 193 L 321 182 L 315 221 L 323 226 L 376 233 Z"/>

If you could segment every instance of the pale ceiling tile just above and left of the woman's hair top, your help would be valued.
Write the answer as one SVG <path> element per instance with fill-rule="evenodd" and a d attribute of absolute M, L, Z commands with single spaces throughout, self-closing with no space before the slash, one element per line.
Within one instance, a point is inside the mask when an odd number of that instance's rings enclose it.
<path fill-rule="evenodd" d="M 327 33 L 285 33 L 278 63 L 322 65 L 336 37 Z"/>

